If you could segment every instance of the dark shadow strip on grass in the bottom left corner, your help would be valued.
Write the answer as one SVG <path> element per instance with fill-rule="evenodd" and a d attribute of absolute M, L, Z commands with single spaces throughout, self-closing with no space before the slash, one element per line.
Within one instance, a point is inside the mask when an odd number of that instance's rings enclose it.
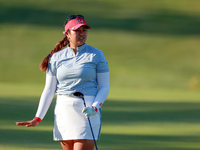
<path fill-rule="evenodd" d="M 61 148 L 59 142 L 54 142 L 52 132 L 38 131 L 34 129 L 24 129 L 19 127 L 19 130 L 0 130 L 0 145 L 7 145 L 16 148 Z"/>

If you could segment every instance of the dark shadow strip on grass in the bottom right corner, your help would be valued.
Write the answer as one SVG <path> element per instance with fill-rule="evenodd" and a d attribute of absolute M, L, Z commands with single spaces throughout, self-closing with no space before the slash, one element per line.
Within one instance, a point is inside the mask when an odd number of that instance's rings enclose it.
<path fill-rule="evenodd" d="M 200 136 L 102 134 L 101 150 L 199 150 Z M 198 146 L 197 146 L 198 145 Z"/>

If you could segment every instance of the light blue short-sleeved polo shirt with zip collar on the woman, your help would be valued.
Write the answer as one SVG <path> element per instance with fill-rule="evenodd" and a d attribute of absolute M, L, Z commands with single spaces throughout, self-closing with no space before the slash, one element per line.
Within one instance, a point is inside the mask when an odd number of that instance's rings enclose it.
<path fill-rule="evenodd" d="M 97 73 L 109 72 L 103 52 L 86 43 L 77 48 L 75 55 L 71 47 L 54 53 L 47 74 L 58 80 L 56 94 L 72 95 L 78 91 L 88 96 L 98 92 Z"/>

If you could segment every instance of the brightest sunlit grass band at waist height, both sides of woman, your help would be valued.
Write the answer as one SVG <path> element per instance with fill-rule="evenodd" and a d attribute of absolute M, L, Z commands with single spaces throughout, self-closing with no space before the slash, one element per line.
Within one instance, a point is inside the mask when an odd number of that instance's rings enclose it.
<path fill-rule="evenodd" d="M 0 95 L 9 97 L 40 97 L 43 84 L 0 83 Z M 117 94 L 116 94 L 117 93 Z M 200 93 L 193 90 L 127 88 L 111 86 L 109 100 L 151 102 L 199 102 Z"/>

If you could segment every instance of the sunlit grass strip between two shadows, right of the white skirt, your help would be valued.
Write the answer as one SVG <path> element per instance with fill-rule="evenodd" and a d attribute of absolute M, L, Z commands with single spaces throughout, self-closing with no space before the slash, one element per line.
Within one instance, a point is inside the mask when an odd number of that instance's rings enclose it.
<path fill-rule="evenodd" d="M 151 136 L 198 136 L 199 123 L 134 123 L 123 125 L 104 125 L 102 133 L 122 135 Z"/>

